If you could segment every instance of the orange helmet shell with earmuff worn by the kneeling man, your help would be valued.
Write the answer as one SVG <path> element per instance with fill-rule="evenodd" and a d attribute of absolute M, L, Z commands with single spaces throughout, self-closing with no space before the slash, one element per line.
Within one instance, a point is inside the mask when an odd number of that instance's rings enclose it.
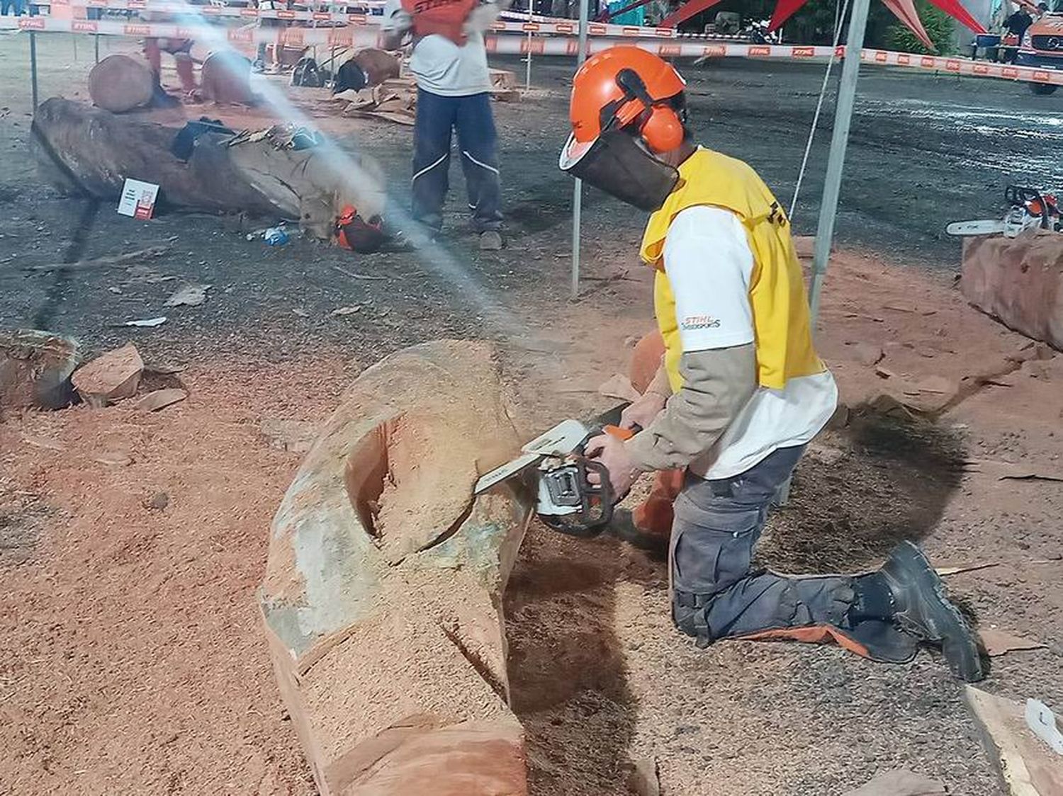
<path fill-rule="evenodd" d="M 638 47 L 592 55 L 572 81 L 569 117 L 577 145 L 635 123 L 652 152 L 675 149 L 684 130 L 674 104 L 686 85 L 671 64 Z"/>

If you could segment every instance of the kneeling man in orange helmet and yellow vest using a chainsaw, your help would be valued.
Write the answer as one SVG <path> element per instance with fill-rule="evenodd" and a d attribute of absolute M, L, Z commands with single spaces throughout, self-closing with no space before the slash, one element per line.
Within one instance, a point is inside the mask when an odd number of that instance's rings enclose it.
<path fill-rule="evenodd" d="M 640 473 L 686 471 L 673 491 L 672 619 L 698 646 L 834 640 L 904 662 L 928 642 L 957 677 L 978 680 L 974 636 L 910 542 L 857 576 L 753 568 L 767 510 L 838 392 L 812 344 L 784 211 L 748 165 L 694 143 L 684 88 L 672 66 L 635 47 L 594 55 L 573 81 L 560 166 L 653 214 L 640 254 L 655 270 L 663 343 L 653 389 L 622 418 L 642 430 L 626 442 L 596 437 L 587 455 L 618 495 Z"/>

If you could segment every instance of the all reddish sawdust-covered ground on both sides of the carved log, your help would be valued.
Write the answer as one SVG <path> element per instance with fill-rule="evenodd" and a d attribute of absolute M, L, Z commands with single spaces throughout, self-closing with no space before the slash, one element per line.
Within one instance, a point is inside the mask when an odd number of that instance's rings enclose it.
<path fill-rule="evenodd" d="M 647 276 L 604 283 L 540 348 L 509 346 L 512 408 L 527 431 L 609 403 L 594 389 L 651 325 Z M 618 317 L 617 306 L 628 309 Z M 1023 345 L 948 285 L 859 256 L 833 267 L 823 328 L 851 404 L 883 390 L 904 401 L 928 375 L 962 384 Z M 881 346 L 889 375 L 861 363 L 856 343 Z M 1058 465 L 1061 361 L 981 384 L 933 425 L 855 418 L 820 440 L 764 558 L 859 569 L 912 536 L 942 564 L 993 562 L 952 576 L 950 589 L 983 625 L 1048 649 L 995 659 L 988 687 L 1063 705 L 1063 595 L 1050 588 L 1063 499 L 1048 482 L 997 480 L 968 463 Z M 200 362 L 180 376 L 189 399 L 155 414 L 119 405 L 0 425 L 0 539 L 22 558 L 0 545 L 9 790 L 313 792 L 254 606 L 270 518 L 300 455 L 271 447 L 259 426 L 323 421 L 353 375 L 320 351 L 300 363 Z M 131 462 L 96 461 L 113 451 Z M 168 505 L 150 508 L 159 492 Z M 654 758 L 667 792 L 684 796 L 840 793 L 897 765 L 968 796 L 996 793 L 958 685 L 933 656 L 881 666 L 834 647 L 697 650 L 671 628 L 665 587 L 662 562 L 641 553 L 529 532 L 506 608 L 534 793 L 625 793 L 625 766 L 639 758 Z"/>

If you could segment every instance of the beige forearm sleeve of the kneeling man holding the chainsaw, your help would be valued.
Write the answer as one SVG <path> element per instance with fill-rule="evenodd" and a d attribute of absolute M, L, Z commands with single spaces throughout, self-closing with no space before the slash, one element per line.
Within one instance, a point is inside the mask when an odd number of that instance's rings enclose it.
<path fill-rule="evenodd" d="M 639 470 L 684 468 L 712 447 L 757 389 L 756 346 L 687 352 L 679 372 L 679 391 L 648 428 L 624 443 Z"/>

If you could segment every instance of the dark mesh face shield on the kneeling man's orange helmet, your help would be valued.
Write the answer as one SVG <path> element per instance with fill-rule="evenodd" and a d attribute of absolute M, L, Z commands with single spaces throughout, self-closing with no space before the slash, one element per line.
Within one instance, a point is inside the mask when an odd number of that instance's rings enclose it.
<path fill-rule="evenodd" d="M 590 183 L 622 202 L 652 213 L 679 182 L 679 172 L 661 163 L 626 130 L 607 130 L 593 141 L 574 136 L 561 150 L 561 171 Z"/>

